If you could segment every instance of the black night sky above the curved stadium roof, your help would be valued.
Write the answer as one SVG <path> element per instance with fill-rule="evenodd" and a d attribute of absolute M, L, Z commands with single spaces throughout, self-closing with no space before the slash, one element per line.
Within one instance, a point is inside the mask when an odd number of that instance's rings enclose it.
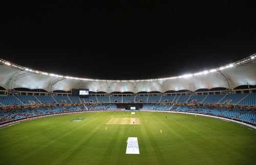
<path fill-rule="evenodd" d="M 250 4 L 20 3 L 2 6 L 0 58 L 54 74 L 163 78 L 256 53 Z"/>

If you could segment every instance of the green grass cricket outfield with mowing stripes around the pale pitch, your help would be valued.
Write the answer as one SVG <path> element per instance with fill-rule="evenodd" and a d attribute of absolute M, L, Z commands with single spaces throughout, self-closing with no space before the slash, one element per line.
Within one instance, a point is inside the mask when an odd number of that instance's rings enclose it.
<path fill-rule="evenodd" d="M 128 137 L 140 154 L 125 154 Z M 255 153 L 256 130 L 189 114 L 64 114 L 0 130 L 0 164 L 255 164 Z"/>

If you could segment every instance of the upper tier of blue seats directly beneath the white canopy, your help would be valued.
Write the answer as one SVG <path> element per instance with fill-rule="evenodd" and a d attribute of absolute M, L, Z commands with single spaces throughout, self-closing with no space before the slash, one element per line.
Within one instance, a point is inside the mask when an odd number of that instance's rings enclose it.
<path fill-rule="evenodd" d="M 256 106 L 256 93 L 177 96 L 92 96 L 86 99 L 70 96 L 2 95 L 0 107 L 13 105 L 58 104 L 58 103 L 202 103 Z"/>

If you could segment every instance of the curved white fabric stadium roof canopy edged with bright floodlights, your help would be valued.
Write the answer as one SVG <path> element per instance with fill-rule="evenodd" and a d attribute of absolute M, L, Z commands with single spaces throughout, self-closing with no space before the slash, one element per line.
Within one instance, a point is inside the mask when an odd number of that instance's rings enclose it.
<path fill-rule="evenodd" d="M 72 88 L 89 88 L 90 91 L 141 92 L 168 90 L 196 91 L 202 88 L 224 87 L 234 89 L 240 85 L 256 84 L 256 54 L 237 62 L 202 70 L 187 75 L 147 80 L 98 80 L 56 75 L 20 66 L 0 59 L 0 86 L 7 90 L 14 88 L 45 89 L 47 91 Z"/>

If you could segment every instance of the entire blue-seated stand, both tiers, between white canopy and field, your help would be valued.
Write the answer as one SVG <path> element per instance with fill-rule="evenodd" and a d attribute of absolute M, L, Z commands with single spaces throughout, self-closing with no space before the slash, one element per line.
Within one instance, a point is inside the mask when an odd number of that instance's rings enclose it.
<path fill-rule="evenodd" d="M 38 105 L 46 107 L 34 108 L 13 108 L 12 110 L 0 110 L 0 122 L 12 121 L 16 119 L 23 119 L 24 117 L 45 115 L 60 112 L 75 112 L 87 110 L 106 110 L 117 109 L 116 100 L 124 103 L 138 103 L 143 101 L 142 109 L 148 110 L 165 110 L 165 111 L 181 111 L 203 113 L 210 115 L 218 115 L 228 117 L 230 119 L 242 120 L 250 123 L 256 123 L 256 113 L 254 110 L 248 110 L 245 107 L 230 108 L 230 107 L 213 107 L 213 106 L 192 106 L 183 105 L 183 103 L 204 103 L 204 104 L 227 104 L 227 105 L 241 105 L 241 106 L 256 106 L 256 93 L 237 93 L 228 95 L 179 95 L 179 96 L 137 96 L 137 97 L 95 97 L 90 96 L 86 99 L 70 96 L 32 96 L 32 95 L 2 95 L 0 96 L 0 107 L 15 107 L 25 105 Z M 161 102 L 160 105 L 152 104 Z M 175 103 L 182 105 L 164 105 L 166 103 Z M 66 106 L 52 106 L 56 103 L 90 103 L 90 105 L 66 105 Z M 96 103 L 92 104 L 92 103 Z M 43 104 L 43 105 L 42 105 Z"/>

